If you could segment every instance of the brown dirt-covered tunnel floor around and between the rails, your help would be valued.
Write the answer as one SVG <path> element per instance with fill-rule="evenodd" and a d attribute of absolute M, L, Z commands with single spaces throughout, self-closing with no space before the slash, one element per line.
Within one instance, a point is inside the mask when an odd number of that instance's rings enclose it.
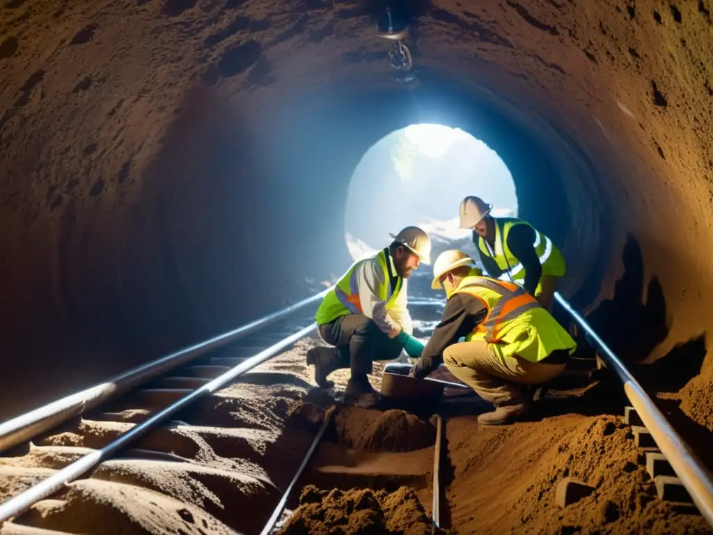
<path fill-rule="evenodd" d="M 134 446 L 170 452 L 178 456 L 174 461 L 112 459 L 0 533 L 259 533 L 330 403 L 312 389 L 303 364 L 314 343 L 302 340 Z M 268 380 L 261 372 L 284 375 Z M 346 375 L 336 375 L 339 389 Z M 709 533 L 702 516 L 679 513 L 656 498 L 644 456 L 619 417 L 587 414 L 577 403 L 557 414 L 567 394 L 555 392 L 549 415 L 538 422 L 482 428 L 474 416 L 446 419 L 443 528 L 461 534 Z M 585 389 L 578 399 L 596 395 Z M 151 407 L 115 410 L 116 422 L 68 422 L 26 454 L 0 458 L 0 499 L 103 446 Z M 428 417 L 338 406 L 279 531 L 430 533 L 434 439 Z M 560 509 L 555 488 L 567 476 L 595 491 Z"/>

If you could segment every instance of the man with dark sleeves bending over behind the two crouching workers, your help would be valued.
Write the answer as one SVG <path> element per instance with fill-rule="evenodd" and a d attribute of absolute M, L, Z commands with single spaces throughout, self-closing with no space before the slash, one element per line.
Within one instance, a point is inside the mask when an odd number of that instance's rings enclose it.
<path fill-rule="evenodd" d="M 493 218 L 493 205 L 466 197 L 459 209 L 461 228 L 473 229 L 473 243 L 485 271 L 493 278 L 510 280 L 534 295 L 552 311 L 565 259 L 552 240 L 530 223 L 514 218 Z"/>

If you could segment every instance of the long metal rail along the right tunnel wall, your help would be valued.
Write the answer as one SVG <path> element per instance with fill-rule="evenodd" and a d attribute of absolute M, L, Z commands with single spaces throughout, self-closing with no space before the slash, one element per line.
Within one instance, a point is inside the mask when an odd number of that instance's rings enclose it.
<path fill-rule="evenodd" d="M 683 486 L 686 487 L 694 504 L 701 511 L 701 514 L 705 516 L 709 524 L 713 526 L 713 474 L 691 451 L 688 444 L 674 430 L 639 382 L 588 322 L 573 309 L 572 305 L 565 300 L 560 292 L 555 292 L 555 300 L 590 335 L 591 340 L 602 352 L 600 357 L 615 370 L 624 384 L 624 392 L 629 398 L 632 407 L 636 409 L 656 445 L 665 455 Z"/>

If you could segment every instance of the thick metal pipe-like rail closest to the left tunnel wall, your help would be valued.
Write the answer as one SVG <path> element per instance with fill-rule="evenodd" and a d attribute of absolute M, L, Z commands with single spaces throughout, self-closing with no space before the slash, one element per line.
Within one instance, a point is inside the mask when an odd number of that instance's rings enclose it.
<path fill-rule="evenodd" d="M 294 303 L 294 305 L 290 305 L 277 312 L 272 312 L 272 314 L 263 316 L 235 330 L 225 332 L 205 342 L 184 347 L 182 350 L 154 360 L 153 362 L 148 362 L 145 365 L 135 367 L 116 377 L 112 377 L 106 382 L 96 384 L 86 390 L 76 392 L 75 394 L 63 397 L 43 407 L 10 419 L 0 424 L 0 453 L 17 444 L 26 442 L 36 437 L 36 435 L 66 422 L 70 418 L 96 407 L 98 404 L 106 402 L 107 399 L 117 394 L 135 388 L 139 384 L 143 384 L 154 377 L 158 377 L 160 374 L 180 367 L 206 352 L 225 346 L 246 335 L 250 335 L 250 333 L 265 327 L 265 325 L 282 319 L 314 301 L 321 300 L 331 289 L 332 288 L 328 288 L 323 292 L 319 292 L 317 295 L 307 297 L 307 299 Z"/>

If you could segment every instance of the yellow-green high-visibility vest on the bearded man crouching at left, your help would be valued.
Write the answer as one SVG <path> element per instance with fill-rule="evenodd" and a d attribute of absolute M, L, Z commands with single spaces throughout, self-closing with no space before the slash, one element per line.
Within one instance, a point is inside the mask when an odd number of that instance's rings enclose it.
<path fill-rule="evenodd" d="M 379 263 L 381 270 L 384 271 L 384 282 L 377 288 L 379 298 L 387 301 L 386 310 L 393 307 L 396 297 L 399 297 L 399 292 L 404 287 L 404 279 L 392 272 L 390 257 L 391 255 L 387 248 L 379 251 L 372 258 L 358 260 L 352 264 L 352 267 L 349 267 L 349 270 L 342 275 L 342 278 L 334 285 L 334 288 L 324 296 L 314 318 L 317 321 L 317 325 L 327 325 L 327 323 L 333 322 L 339 316 L 362 313 L 359 285 L 356 281 L 356 267 L 364 262 L 373 262 L 374 259 Z M 394 277 L 396 281 L 392 287 L 391 280 Z"/>

